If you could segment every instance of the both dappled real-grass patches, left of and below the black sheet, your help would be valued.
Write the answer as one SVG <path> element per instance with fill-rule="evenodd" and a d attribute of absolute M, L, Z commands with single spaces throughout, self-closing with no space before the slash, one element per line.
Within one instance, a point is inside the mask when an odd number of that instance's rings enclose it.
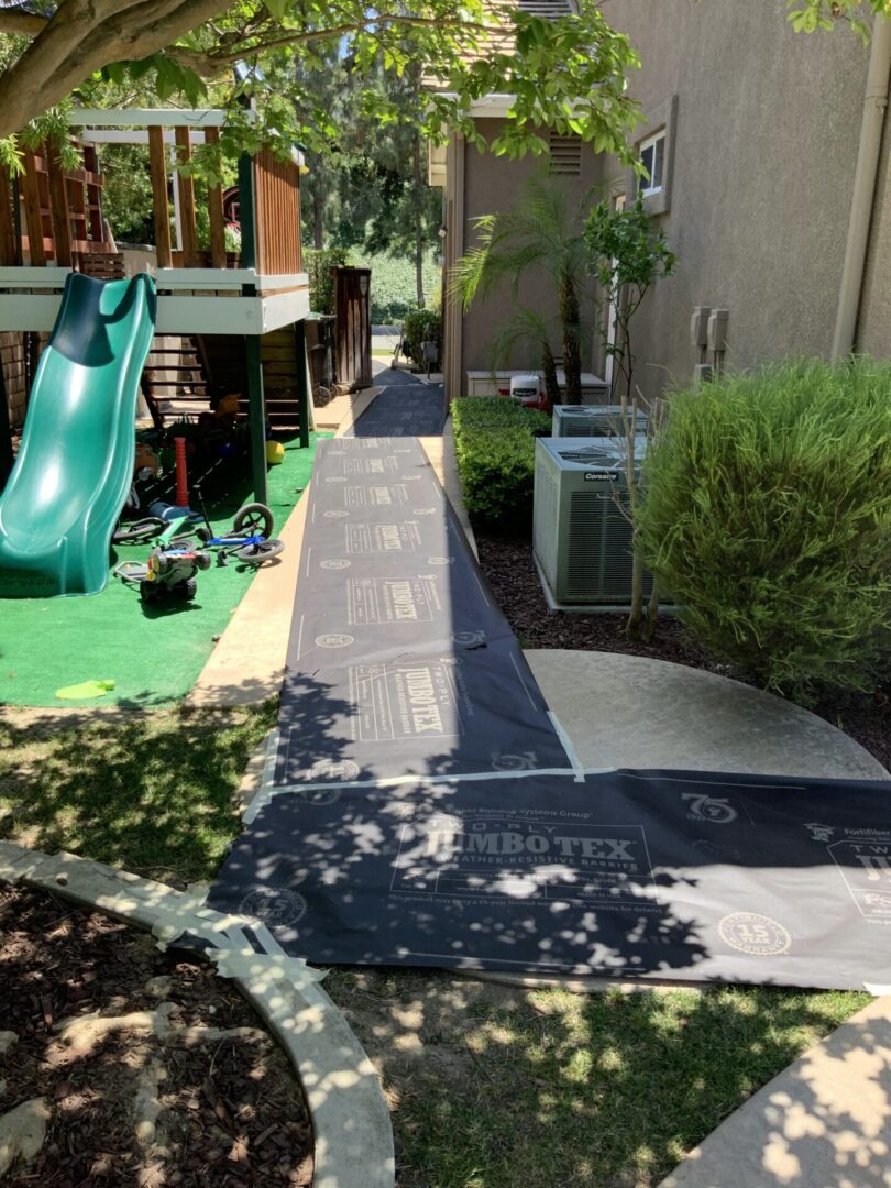
<path fill-rule="evenodd" d="M 0 835 L 177 886 L 239 832 L 235 790 L 276 718 L 118 712 L 58 731 L 0 715 Z M 866 994 L 712 987 L 576 996 L 447 973 L 331 969 L 378 1066 L 400 1188 L 652 1186 Z"/>

